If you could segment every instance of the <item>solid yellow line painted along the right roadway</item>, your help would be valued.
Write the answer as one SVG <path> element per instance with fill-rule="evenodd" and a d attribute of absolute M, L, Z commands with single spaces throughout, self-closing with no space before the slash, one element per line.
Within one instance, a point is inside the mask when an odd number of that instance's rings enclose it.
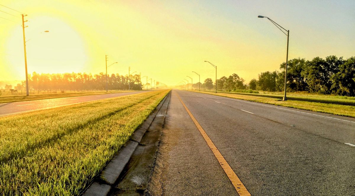
<path fill-rule="evenodd" d="M 233 184 L 235 190 L 238 192 L 239 196 L 251 196 L 249 191 L 246 189 L 244 184 L 240 181 L 238 176 L 234 173 L 233 169 L 230 167 L 230 165 L 227 163 L 227 161 L 224 159 L 222 154 L 219 152 L 217 147 L 214 145 L 212 140 L 208 137 L 206 132 L 202 129 L 201 125 L 197 122 L 195 117 L 191 114 L 190 110 L 187 109 L 186 105 L 184 102 L 182 102 L 180 96 L 178 95 L 178 98 L 180 99 L 182 105 L 184 105 L 184 108 L 186 109 L 187 113 L 189 113 L 191 119 L 193 122 L 195 122 L 195 125 L 197 126 L 197 129 L 200 131 L 201 135 L 203 136 L 204 140 L 207 142 L 207 145 L 209 148 L 212 150 L 214 156 L 217 158 L 219 164 L 222 166 L 225 174 L 227 174 L 229 180 Z"/>

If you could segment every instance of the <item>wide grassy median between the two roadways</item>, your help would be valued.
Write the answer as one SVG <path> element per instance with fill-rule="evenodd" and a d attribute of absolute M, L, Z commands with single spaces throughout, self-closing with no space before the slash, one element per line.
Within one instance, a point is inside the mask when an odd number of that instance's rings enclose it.
<path fill-rule="evenodd" d="M 0 195 L 81 194 L 168 92 L 0 118 Z"/>

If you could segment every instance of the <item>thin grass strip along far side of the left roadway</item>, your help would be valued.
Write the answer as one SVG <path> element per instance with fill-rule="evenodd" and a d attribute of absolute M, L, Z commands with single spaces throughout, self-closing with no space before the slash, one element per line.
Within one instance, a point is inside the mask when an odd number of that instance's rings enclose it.
<path fill-rule="evenodd" d="M 77 92 L 77 93 L 58 93 L 58 94 L 35 94 L 29 96 L 2 96 L 0 97 L 0 103 L 11 103 L 11 102 L 22 102 L 31 101 L 39 99 L 53 99 L 62 97 L 77 97 L 77 96 L 87 96 L 95 94 L 108 94 L 108 93 L 121 93 L 121 92 L 132 92 L 132 91 L 94 91 L 94 92 Z"/>

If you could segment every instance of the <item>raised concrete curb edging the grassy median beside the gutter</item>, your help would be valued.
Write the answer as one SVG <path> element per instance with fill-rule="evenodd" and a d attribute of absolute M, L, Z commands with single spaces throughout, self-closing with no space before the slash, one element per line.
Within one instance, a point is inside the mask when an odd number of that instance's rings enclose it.
<path fill-rule="evenodd" d="M 126 164 L 129 162 L 133 152 L 135 152 L 138 144 L 141 142 L 144 134 L 151 126 L 155 116 L 157 116 L 160 108 L 164 104 L 166 98 L 171 91 L 166 94 L 164 99 L 157 105 L 152 114 L 133 132 L 130 139 L 125 143 L 119 152 L 103 169 L 101 174 L 96 178 L 88 189 L 83 193 L 84 196 L 106 196 L 111 190 L 111 186 L 118 180 Z"/>

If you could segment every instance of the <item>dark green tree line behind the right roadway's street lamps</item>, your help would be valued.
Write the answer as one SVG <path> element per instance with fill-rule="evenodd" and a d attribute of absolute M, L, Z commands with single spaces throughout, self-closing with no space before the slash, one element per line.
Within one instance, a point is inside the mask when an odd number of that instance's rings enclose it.
<path fill-rule="evenodd" d="M 260 91 L 283 91 L 285 82 L 285 62 L 279 71 L 261 72 L 257 79 L 245 84 L 244 79 L 233 73 L 229 77 L 217 79 L 218 91 L 236 91 L 251 89 Z M 348 59 L 327 56 L 312 60 L 295 58 L 288 61 L 287 91 L 306 91 L 320 94 L 338 94 L 355 96 L 355 57 Z M 198 83 L 192 85 L 198 89 Z M 214 89 L 215 83 L 207 78 L 200 83 L 202 89 Z"/>

